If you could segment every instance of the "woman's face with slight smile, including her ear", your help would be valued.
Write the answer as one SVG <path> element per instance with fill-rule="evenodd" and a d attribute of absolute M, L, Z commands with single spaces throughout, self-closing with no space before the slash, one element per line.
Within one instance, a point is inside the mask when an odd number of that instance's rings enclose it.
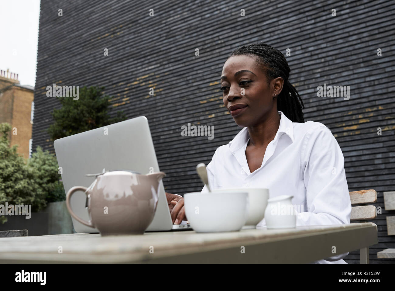
<path fill-rule="evenodd" d="M 224 105 L 239 127 L 249 127 L 264 121 L 267 114 L 277 111 L 277 99 L 284 80 L 277 77 L 267 84 L 266 75 L 247 55 L 226 60 L 221 75 Z"/>

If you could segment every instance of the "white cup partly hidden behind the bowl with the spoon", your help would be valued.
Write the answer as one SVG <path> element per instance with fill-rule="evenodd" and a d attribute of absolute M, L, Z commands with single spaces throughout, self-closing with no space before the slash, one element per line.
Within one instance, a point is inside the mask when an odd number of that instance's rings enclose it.
<path fill-rule="evenodd" d="M 222 193 L 229 192 L 247 192 L 248 193 L 248 218 L 245 226 L 254 226 L 265 217 L 265 209 L 267 200 L 269 199 L 269 189 L 266 188 L 219 188 L 212 190 L 213 193 L 217 191 Z"/>

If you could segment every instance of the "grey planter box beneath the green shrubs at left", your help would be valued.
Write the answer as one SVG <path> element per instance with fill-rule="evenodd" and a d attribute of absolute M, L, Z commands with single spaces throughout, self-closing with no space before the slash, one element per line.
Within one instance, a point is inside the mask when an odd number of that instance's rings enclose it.
<path fill-rule="evenodd" d="M 27 229 L 28 236 L 75 233 L 73 221 L 66 207 L 66 201 L 50 202 L 32 217 L 9 215 L 6 223 L 0 223 L 0 231 Z"/>

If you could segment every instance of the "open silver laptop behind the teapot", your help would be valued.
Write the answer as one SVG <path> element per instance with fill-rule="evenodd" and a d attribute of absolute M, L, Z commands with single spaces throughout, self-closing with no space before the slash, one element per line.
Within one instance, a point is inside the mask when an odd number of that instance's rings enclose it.
<path fill-rule="evenodd" d="M 62 167 L 62 181 L 67 193 L 73 186 L 89 185 L 95 176 L 86 174 L 102 173 L 105 170 L 131 170 L 148 174 L 159 172 L 154 144 L 152 143 L 148 120 L 145 116 L 121 121 L 86 132 L 59 138 L 54 142 L 56 158 Z M 152 167 L 152 168 L 151 168 Z M 84 192 L 76 192 L 70 200 L 74 213 L 88 221 L 87 197 Z M 76 232 L 99 232 L 83 225 L 72 217 Z M 192 230 L 182 221 L 173 225 L 163 182 L 160 182 L 159 200 L 152 223 L 146 231 Z"/>

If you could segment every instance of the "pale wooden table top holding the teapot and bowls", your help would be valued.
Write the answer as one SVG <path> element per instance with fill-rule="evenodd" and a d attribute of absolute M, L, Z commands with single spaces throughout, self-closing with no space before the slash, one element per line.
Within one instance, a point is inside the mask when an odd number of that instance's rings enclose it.
<path fill-rule="evenodd" d="M 374 223 L 0 238 L 0 263 L 311 263 L 376 244 Z M 241 251 L 244 248 L 244 253 Z"/>

